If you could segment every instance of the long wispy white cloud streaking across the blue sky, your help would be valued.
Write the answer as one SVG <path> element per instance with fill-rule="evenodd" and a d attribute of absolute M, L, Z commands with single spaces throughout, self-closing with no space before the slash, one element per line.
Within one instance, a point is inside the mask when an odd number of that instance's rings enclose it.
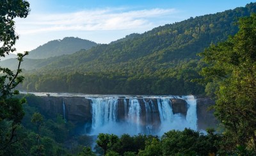
<path fill-rule="evenodd" d="M 33 35 L 52 31 L 141 29 L 152 27 L 155 20 L 176 12 L 175 9 L 160 8 L 136 11 L 106 8 L 51 15 L 31 13 L 26 19 L 16 19 L 16 31 L 19 35 Z"/>

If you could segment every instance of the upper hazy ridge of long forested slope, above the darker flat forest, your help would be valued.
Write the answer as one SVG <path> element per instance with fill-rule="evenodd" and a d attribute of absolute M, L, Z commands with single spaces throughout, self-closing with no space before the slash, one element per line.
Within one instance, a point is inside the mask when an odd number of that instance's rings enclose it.
<path fill-rule="evenodd" d="M 196 54 L 211 43 L 223 42 L 238 31 L 240 17 L 256 12 L 256 3 L 234 10 L 190 18 L 156 27 L 142 34 L 60 56 L 44 70 L 63 68 L 79 72 L 155 72 L 173 68 L 180 61 L 198 59 Z M 131 71 L 132 69 L 132 71 Z"/>

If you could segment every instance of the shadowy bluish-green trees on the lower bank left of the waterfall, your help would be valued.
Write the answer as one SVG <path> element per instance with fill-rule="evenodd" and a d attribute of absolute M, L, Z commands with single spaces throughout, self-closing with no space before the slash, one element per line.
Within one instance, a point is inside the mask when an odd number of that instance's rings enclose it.
<path fill-rule="evenodd" d="M 29 95 L 27 95 L 29 98 Z M 21 96 L 20 96 L 21 97 Z M 33 97 L 32 97 L 33 98 Z M 75 126 L 56 114 L 49 118 L 41 114 L 36 103 L 22 104 L 21 124 L 15 128 L 15 142 L 0 149 L 0 155 L 84 155 L 92 153 L 90 136 L 77 136 Z M 1 109 L 0 109 L 1 110 Z M 12 134 L 12 121 L 0 122 L 0 141 Z M 5 144 L 0 143 L 0 147 Z"/>

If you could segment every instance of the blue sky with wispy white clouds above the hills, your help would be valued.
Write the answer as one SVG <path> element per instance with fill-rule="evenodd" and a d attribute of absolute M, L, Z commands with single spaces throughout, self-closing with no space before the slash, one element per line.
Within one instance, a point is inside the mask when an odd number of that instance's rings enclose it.
<path fill-rule="evenodd" d="M 17 52 L 74 36 L 110 43 L 131 33 L 245 6 L 248 0 L 28 0 L 26 19 L 15 19 Z"/>

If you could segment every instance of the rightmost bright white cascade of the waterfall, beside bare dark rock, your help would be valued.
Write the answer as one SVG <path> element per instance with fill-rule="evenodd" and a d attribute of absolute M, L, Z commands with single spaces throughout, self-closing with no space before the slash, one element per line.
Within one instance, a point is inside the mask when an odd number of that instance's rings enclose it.
<path fill-rule="evenodd" d="M 196 100 L 193 95 L 183 96 L 188 103 L 188 111 L 186 121 L 188 121 L 188 128 L 197 130 L 197 114 L 196 114 Z"/>

